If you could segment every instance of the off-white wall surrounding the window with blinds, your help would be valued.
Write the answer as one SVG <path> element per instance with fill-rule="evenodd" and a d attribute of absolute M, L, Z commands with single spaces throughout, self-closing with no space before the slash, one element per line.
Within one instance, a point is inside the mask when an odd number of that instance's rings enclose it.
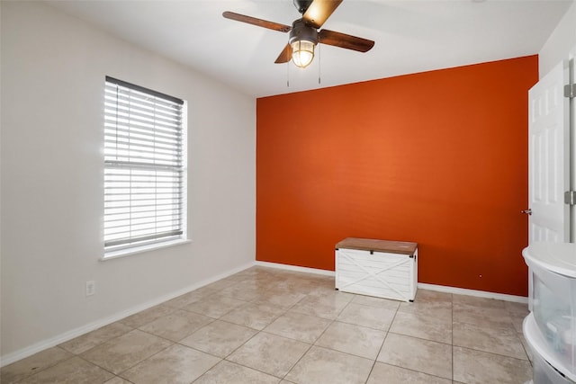
<path fill-rule="evenodd" d="M 47 4 L 1 6 L 2 363 L 253 263 L 254 98 Z M 106 75 L 188 101 L 191 244 L 99 260 Z"/>

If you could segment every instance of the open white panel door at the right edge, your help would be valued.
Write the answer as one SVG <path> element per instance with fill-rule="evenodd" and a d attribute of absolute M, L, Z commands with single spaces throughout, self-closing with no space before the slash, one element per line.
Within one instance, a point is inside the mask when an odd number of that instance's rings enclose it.
<path fill-rule="evenodd" d="M 570 241 L 568 67 L 560 63 L 528 93 L 528 244 Z"/>

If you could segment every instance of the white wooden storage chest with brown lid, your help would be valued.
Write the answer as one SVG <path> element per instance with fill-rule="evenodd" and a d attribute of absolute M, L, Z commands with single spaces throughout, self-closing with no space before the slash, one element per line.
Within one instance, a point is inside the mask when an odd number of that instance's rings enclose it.
<path fill-rule="evenodd" d="M 336 245 L 337 290 L 413 301 L 417 282 L 417 243 L 348 237 Z"/>

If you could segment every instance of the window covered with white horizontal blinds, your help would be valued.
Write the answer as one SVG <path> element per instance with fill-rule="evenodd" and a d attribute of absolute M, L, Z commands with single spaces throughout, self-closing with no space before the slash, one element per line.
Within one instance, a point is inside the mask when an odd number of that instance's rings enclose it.
<path fill-rule="evenodd" d="M 106 76 L 105 256 L 184 239 L 183 110 L 180 99 Z"/>

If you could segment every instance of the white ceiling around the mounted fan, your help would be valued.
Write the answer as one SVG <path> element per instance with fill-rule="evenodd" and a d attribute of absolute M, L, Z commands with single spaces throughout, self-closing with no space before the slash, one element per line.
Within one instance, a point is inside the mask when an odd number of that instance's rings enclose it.
<path fill-rule="evenodd" d="M 344 0 L 323 28 L 374 40 L 374 48 L 359 53 L 320 45 L 320 58 L 305 69 L 274 63 L 287 33 L 221 15 L 232 11 L 291 25 L 300 17 L 293 0 L 49 4 L 260 97 L 533 55 L 572 1 Z"/>

